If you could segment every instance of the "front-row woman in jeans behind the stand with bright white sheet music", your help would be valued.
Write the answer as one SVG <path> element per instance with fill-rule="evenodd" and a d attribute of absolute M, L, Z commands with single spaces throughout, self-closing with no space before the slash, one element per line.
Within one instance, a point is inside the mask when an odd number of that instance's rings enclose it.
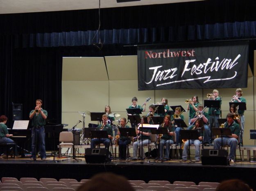
<path fill-rule="evenodd" d="M 143 116 L 142 118 L 144 119 L 146 116 Z M 144 159 L 145 156 L 145 151 L 144 148 L 141 148 L 141 139 L 142 139 L 142 146 L 148 145 L 151 143 L 150 140 L 150 130 L 149 129 L 143 129 L 142 132 L 139 131 L 138 129 L 136 130 L 136 134 L 137 136 L 137 141 L 134 142 L 133 144 L 133 160 L 137 160 L 138 159 L 138 147 L 140 147 L 140 153 L 141 154 L 141 150 L 142 150 L 142 158 Z"/>

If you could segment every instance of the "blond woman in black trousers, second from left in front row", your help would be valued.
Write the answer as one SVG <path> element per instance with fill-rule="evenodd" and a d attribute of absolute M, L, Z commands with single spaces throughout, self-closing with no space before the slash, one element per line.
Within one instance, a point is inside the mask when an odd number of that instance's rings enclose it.
<path fill-rule="evenodd" d="M 120 119 L 120 126 L 119 128 L 129 128 L 128 125 L 126 125 L 126 118 Z M 120 135 L 120 131 L 118 131 L 118 135 Z M 127 151 L 127 145 L 131 143 L 131 139 L 129 137 L 120 137 L 118 141 L 119 145 L 119 158 L 121 160 L 125 159 L 126 157 L 126 151 Z"/>

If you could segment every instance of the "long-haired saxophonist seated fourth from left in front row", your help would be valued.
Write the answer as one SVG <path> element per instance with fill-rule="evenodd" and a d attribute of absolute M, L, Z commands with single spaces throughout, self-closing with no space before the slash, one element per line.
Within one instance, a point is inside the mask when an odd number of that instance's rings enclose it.
<path fill-rule="evenodd" d="M 168 129 L 168 135 L 163 134 L 160 140 L 160 160 L 164 158 L 169 159 L 169 151 L 170 151 L 170 144 L 173 144 L 173 135 L 174 135 L 174 126 L 172 126 L 170 115 L 165 115 L 163 123 L 159 127 L 164 127 Z M 163 158 L 163 147 L 166 146 L 165 155 Z"/>

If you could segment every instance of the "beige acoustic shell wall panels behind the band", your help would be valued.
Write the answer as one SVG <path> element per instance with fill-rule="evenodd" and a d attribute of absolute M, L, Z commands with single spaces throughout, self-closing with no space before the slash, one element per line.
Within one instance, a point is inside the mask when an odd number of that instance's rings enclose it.
<path fill-rule="evenodd" d="M 77 59 L 77 58 L 76 58 Z M 127 62 L 128 60 L 128 62 Z M 156 103 L 161 100 L 162 97 L 168 98 L 168 104 L 182 105 L 185 109 L 187 104 L 184 102 L 186 99 L 191 98 L 193 95 L 199 97 L 199 102 L 203 103 L 207 93 L 212 93 L 213 89 L 175 89 L 175 90 L 151 90 L 151 91 L 138 91 L 137 83 L 137 71 L 136 56 L 116 56 L 106 57 L 106 66 L 104 59 L 97 58 L 94 64 L 91 58 L 79 58 L 79 63 L 82 66 L 87 64 L 88 67 L 93 68 L 84 71 L 83 67 L 76 64 L 75 73 L 73 78 L 70 77 L 70 64 L 75 61 L 70 58 L 63 58 L 63 81 L 62 81 L 62 123 L 68 124 L 71 128 L 78 120 L 83 120 L 80 112 L 102 112 L 104 106 L 109 104 L 111 106 L 112 113 L 119 113 L 121 117 L 126 117 L 126 108 L 131 104 L 131 98 L 136 96 L 138 98 L 138 104 L 143 104 L 146 98 L 152 98 L 147 104 L 146 112 L 148 112 L 148 106 L 152 103 Z M 90 63 L 88 63 L 90 62 Z M 122 64 L 118 63 L 132 63 L 131 67 L 126 67 L 125 71 L 122 70 Z M 69 66 L 69 67 L 66 67 Z M 100 68 L 102 76 L 97 76 L 97 67 Z M 120 67 L 120 68 L 117 68 Z M 96 69 L 95 69 L 96 68 Z M 115 72 L 113 72 L 113 71 Z M 94 72 L 94 74 L 92 73 Z M 135 72 L 135 74 L 134 74 Z M 69 74 L 69 78 L 65 78 L 66 74 Z M 109 76 L 105 80 L 105 74 Z M 130 76 L 129 73 L 132 73 Z M 127 75 L 128 74 L 128 75 Z M 79 76 L 79 79 L 77 78 Z M 82 77 L 84 76 L 84 79 Z M 90 78 L 88 79 L 88 76 Z M 113 77 L 114 76 L 114 77 Z M 127 80 L 123 80 L 127 79 Z M 100 80 L 99 80 L 100 79 Z M 118 80 L 120 79 L 120 80 Z M 256 88 L 254 87 L 255 78 L 251 75 L 249 69 L 248 75 L 248 87 L 243 88 L 244 97 L 247 100 L 247 111 L 245 111 L 245 133 L 244 144 L 254 144 L 254 140 L 249 139 L 249 129 L 255 129 L 255 103 L 254 95 L 256 95 Z M 222 97 L 222 118 L 225 118 L 229 112 L 229 102 L 232 96 L 235 94 L 235 88 L 232 89 L 218 89 L 220 96 Z M 206 110 L 207 111 L 207 110 Z M 184 112 L 185 122 L 188 124 L 188 112 Z M 88 127 L 88 123 L 91 122 L 90 116 L 86 115 L 85 124 Z M 115 122 L 117 123 L 117 122 Z M 77 128 L 82 129 L 82 123 Z"/>

